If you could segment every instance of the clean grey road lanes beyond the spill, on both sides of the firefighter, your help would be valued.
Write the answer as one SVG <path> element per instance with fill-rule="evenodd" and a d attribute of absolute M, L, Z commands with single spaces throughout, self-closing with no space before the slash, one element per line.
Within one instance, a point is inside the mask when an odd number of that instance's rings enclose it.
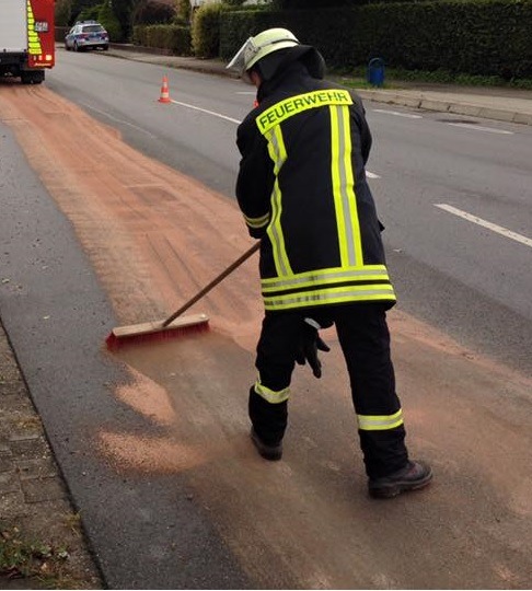
<path fill-rule="evenodd" d="M 250 86 L 103 54 L 59 55 L 49 88 L 143 153 L 233 195 L 234 134 Z M 170 105 L 157 102 L 162 76 Z M 366 106 L 374 137 L 368 170 L 400 306 L 530 374 L 532 129 Z"/>

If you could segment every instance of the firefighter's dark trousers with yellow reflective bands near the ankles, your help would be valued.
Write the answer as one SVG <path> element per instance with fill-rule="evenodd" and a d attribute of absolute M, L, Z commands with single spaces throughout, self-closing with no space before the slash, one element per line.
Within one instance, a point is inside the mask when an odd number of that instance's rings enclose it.
<path fill-rule="evenodd" d="M 401 402 L 390 352 L 386 306 L 354 303 L 326 310 L 266 312 L 257 344 L 258 380 L 250 390 L 248 414 L 267 444 L 282 440 L 288 424 L 290 381 L 305 317 L 334 323 L 350 380 L 360 447 L 370 478 L 408 461 Z"/>

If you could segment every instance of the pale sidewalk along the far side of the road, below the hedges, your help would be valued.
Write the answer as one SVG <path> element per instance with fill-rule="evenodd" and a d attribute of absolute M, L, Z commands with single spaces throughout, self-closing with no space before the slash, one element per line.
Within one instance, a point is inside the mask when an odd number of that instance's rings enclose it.
<path fill-rule="evenodd" d="M 165 56 L 151 53 L 147 48 L 114 44 L 112 44 L 108 55 L 123 59 L 157 63 L 167 68 L 234 78 L 234 74 L 225 69 L 225 63 L 218 59 Z M 360 89 L 357 92 L 365 101 L 532 125 L 532 91 L 509 88 L 416 84 L 412 82 L 394 82 L 394 84 L 404 88 L 401 90 Z"/>

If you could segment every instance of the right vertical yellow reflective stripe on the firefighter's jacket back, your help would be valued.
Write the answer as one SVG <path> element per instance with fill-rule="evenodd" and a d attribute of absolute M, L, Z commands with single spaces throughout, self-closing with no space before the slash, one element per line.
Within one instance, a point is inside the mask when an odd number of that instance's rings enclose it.
<path fill-rule="evenodd" d="M 349 108 L 331 106 L 331 177 L 343 266 L 361 263 L 362 239 L 352 174 Z"/>

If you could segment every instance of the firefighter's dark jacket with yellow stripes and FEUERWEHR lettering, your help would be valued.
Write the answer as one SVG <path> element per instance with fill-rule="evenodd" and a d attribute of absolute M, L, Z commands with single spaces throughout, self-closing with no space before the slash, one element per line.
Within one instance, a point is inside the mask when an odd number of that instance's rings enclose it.
<path fill-rule="evenodd" d="M 292 61 L 258 100 L 238 130 L 236 198 L 250 234 L 262 239 L 265 310 L 393 305 L 360 99 Z"/>

